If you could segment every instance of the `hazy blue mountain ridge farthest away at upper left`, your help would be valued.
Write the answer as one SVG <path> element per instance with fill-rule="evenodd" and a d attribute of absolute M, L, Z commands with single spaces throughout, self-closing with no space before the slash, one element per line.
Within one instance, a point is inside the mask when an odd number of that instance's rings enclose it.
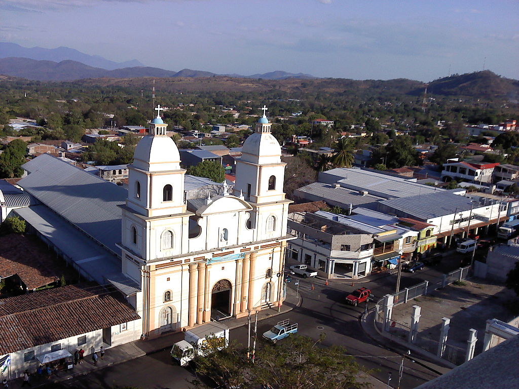
<path fill-rule="evenodd" d="M 72 60 L 84 63 L 92 67 L 100 67 L 106 70 L 119 69 L 121 67 L 144 66 L 137 60 L 126 62 L 114 62 L 99 55 L 89 55 L 70 47 L 58 47 L 56 49 L 45 49 L 43 47 L 22 47 L 16 43 L 0 42 L 0 58 L 20 57 L 33 60 L 44 60 L 61 62 Z"/>

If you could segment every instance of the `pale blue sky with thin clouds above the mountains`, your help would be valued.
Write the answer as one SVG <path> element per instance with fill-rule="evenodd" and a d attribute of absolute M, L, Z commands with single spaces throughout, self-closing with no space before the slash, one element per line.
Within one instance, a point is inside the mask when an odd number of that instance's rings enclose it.
<path fill-rule="evenodd" d="M 519 1 L 0 0 L 0 41 L 169 70 L 519 79 Z M 485 60 L 486 57 L 486 60 Z"/>

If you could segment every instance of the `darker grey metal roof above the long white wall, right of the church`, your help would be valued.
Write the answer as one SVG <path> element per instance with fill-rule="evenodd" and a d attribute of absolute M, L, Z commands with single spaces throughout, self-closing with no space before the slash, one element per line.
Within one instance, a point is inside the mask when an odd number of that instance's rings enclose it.
<path fill-rule="evenodd" d="M 474 209 L 479 207 L 476 204 L 474 203 Z M 385 200 L 381 201 L 380 205 L 405 212 L 421 220 L 427 220 L 434 217 L 452 215 L 455 212 L 469 211 L 471 209 L 471 200 L 467 197 L 445 191 Z"/>

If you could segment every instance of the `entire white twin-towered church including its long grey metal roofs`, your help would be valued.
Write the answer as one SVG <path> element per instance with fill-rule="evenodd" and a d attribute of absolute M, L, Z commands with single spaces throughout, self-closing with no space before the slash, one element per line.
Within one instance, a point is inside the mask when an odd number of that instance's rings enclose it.
<path fill-rule="evenodd" d="M 19 182 L 39 205 L 16 213 L 84 277 L 120 290 L 145 338 L 276 307 L 293 239 L 291 201 L 263 109 L 243 144 L 233 194 L 224 184 L 219 195 L 186 200 L 184 185 L 199 177 L 181 168 L 159 106 L 135 148 L 128 191 L 42 155 L 24 165 L 29 175 Z"/>

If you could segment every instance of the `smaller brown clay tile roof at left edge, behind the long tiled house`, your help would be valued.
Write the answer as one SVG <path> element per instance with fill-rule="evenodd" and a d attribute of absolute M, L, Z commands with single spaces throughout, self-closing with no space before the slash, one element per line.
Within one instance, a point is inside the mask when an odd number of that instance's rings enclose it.
<path fill-rule="evenodd" d="M 42 253 L 23 235 L 0 239 L 0 278 L 17 274 L 32 290 L 59 280 L 52 268 L 50 254 Z"/>

